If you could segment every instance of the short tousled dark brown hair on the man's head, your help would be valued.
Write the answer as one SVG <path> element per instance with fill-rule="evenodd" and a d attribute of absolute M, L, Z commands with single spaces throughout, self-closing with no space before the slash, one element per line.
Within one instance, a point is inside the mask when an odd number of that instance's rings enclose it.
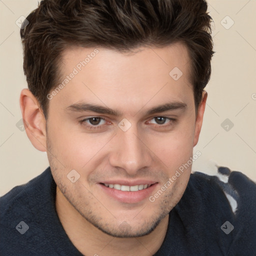
<path fill-rule="evenodd" d="M 20 29 L 29 90 L 47 118 L 47 93 L 59 82 L 61 53 L 69 46 L 128 51 L 183 42 L 191 60 L 196 110 L 214 54 L 205 0 L 42 0 Z"/>

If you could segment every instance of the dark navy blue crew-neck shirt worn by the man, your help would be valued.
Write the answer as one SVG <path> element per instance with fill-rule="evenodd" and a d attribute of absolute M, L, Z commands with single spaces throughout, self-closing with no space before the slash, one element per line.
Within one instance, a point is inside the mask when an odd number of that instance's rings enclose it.
<path fill-rule="evenodd" d="M 216 174 L 190 174 L 155 256 L 256 256 L 256 184 L 226 167 Z M 0 255 L 83 255 L 61 225 L 55 194 L 48 167 L 0 197 Z"/>

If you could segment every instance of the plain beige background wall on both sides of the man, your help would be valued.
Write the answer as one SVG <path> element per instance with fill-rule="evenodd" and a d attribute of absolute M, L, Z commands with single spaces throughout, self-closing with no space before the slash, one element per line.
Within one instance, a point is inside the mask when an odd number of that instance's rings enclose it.
<path fill-rule="evenodd" d="M 212 35 L 216 53 L 206 87 L 202 131 L 194 148 L 202 155 L 192 169 L 208 173 L 217 163 L 256 181 L 256 1 L 208 3 L 215 24 Z M 21 119 L 19 93 L 27 84 L 15 22 L 36 6 L 37 0 L 0 0 L 0 195 L 48 166 L 46 153 L 36 150 L 25 131 L 16 127 Z M 226 118 L 234 124 L 228 131 L 221 127 Z"/>

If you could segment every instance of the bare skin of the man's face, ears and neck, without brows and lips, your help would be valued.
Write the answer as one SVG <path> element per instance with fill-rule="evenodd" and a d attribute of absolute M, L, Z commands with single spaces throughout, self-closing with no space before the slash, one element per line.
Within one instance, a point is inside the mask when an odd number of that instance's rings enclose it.
<path fill-rule="evenodd" d="M 154 195 L 192 157 L 202 125 L 207 93 L 195 113 L 190 61 L 186 47 L 141 47 L 135 53 L 106 48 L 90 59 L 66 86 L 49 100 L 47 122 L 28 89 L 20 95 L 31 143 L 46 151 L 56 188 L 56 211 L 68 237 L 85 255 L 152 255 L 163 242 L 169 211 L 180 200 L 189 166 L 154 202 L 121 202 L 103 192 L 99 182 L 110 179 L 157 182 Z M 72 47 L 63 52 L 63 79 L 94 48 Z M 182 71 L 178 80 L 169 72 Z M 166 102 L 184 108 L 146 115 Z M 91 103 L 120 111 L 120 116 L 71 111 L 75 103 Z M 157 116 L 167 117 L 157 119 Z M 104 117 L 81 122 L 88 117 Z M 123 131 L 118 123 L 131 126 Z M 174 118 L 175 121 L 168 119 Z M 97 126 L 96 129 L 89 127 Z M 80 177 L 67 178 L 75 169 Z"/>

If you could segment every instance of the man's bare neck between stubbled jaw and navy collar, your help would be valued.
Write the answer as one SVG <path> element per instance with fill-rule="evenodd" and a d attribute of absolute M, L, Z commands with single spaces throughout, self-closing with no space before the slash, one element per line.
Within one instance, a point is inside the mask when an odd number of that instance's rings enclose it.
<path fill-rule="evenodd" d="M 151 256 L 160 248 L 166 234 L 169 214 L 147 235 L 130 238 L 113 237 L 88 222 L 67 201 L 58 187 L 56 189 L 55 206 L 59 220 L 73 245 L 82 254 Z"/>

